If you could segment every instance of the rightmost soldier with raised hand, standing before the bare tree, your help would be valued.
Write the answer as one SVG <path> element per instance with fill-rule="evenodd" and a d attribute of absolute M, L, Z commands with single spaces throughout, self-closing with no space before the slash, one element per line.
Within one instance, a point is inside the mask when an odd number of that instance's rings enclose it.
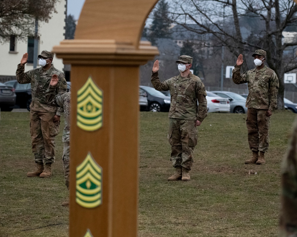
<path fill-rule="evenodd" d="M 256 50 L 252 57 L 255 58 L 256 68 L 240 75 L 243 58 L 242 55 L 238 56 L 232 71 L 232 79 L 235 84 L 247 83 L 249 88 L 246 102 L 247 130 L 249 147 L 253 155 L 245 161 L 245 164 L 265 164 L 264 154 L 269 146 L 270 116 L 277 107 L 279 81 L 276 73 L 264 65 L 266 57 L 264 50 Z"/>

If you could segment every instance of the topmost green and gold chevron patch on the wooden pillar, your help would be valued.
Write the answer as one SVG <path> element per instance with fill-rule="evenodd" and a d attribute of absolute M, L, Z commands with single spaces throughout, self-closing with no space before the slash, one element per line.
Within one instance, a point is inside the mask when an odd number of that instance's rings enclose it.
<path fill-rule="evenodd" d="M 85 131 L 95 131 L 102 127 L 103 92 L 91 77 L 77 92 L 76 124 Z"/>

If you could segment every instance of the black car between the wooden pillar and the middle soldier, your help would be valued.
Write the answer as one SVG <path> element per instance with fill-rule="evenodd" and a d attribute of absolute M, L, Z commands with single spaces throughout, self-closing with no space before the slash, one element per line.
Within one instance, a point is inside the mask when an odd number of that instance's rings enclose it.
<path fill-rule="evenodd" d="M 140 86 L 147 94 L 147 110 L 152 112 L 169 111 L 170 97 L 155 90 L 153 87 Z"/>

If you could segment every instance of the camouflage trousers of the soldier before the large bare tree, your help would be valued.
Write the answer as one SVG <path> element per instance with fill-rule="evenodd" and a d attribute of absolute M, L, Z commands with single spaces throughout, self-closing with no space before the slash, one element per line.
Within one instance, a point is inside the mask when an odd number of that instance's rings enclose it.
<path fill-rule="evenodd" d="M 252 151 L 267 151 L 269 146 L 270 116 L 265 109 L 247 109 L 247 139 Z"/>

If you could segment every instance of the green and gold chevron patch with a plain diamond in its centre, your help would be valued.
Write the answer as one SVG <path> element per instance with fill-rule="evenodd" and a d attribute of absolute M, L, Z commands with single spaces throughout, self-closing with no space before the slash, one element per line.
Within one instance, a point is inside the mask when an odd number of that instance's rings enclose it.
<path fill-rule="evenodd" d="M 91 153 L 76 167 L 76 203 L 86 208 L 102 203 L 102 168 Z"/>

